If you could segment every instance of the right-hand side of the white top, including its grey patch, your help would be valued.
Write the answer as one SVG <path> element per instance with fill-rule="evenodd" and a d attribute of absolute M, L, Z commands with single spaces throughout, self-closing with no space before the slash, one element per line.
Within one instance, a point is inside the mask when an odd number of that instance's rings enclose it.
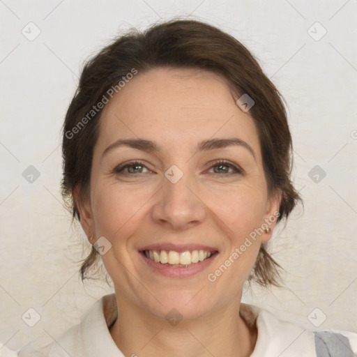
<path fill-rule="evenodd" d="M 258 337 L 251 357 L 356 357 L 357 333 L 314 331 L 276 317 L 255 305 L 242 304 L 255 316 Z M 250 317 L 252 319 L 252 317 Z"/>

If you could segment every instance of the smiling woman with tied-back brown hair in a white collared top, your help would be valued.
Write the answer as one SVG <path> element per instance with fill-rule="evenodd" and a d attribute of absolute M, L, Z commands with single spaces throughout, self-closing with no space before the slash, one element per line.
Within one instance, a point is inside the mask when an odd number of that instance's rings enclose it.
<path fill-rule="evenodd" d="M 357 334 L 306 331 L 241 303 L 279 286 L 266 252 L 301 200 L 280 94 L 236 39 L 172 20 L 89 61 L 63 127 L 63 197 L 102 259 L 104 296 L 45 356 L 355 356 Z M 20 356 L 24 351 L 19 351 Z"/>

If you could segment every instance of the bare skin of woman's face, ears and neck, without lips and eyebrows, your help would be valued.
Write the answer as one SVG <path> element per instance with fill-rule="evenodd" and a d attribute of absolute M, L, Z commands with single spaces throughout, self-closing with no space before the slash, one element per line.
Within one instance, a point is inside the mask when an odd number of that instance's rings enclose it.
<path fill-rule="evenodd" d="M 243 283 L 275 222 L 220 278 L 207 279 L 278 211 L 281 199 L 268 194 L 257 128 L 236 99 L 218 75 L 159 68 L 138 73 L 102 112 L 90 197 L 79 202 L 75 193 L 75 199 L 84 231 L 94 236 L 91 243 L 105 236 L 112 244 L 102 255 L 119 315 L 110 333 L 126 356 L 238 357 L 250 356 L 255 347 L 257 331 L 239 314 Z M 138 137 L 157 142 L 162 151 L 121 146 L 102 157 L 117 139 Z M 243 146 L 194 154 L 198 142 L 218 137 L 244 140 L 256 159 Z M 218 159 L 242 173 L 220 167 L 213 162 Z M 144 166 L 115 172 L 130 160 Z M 172 165 L 183 172 L 177 183 L 165 177 Z M 209 245 L 219 255 L 202 273 L 167 278 L 147 268 L 138 252 L 159 242 Z M 176 326 L 165 319 L 172 308 L 183 317 Z"/>

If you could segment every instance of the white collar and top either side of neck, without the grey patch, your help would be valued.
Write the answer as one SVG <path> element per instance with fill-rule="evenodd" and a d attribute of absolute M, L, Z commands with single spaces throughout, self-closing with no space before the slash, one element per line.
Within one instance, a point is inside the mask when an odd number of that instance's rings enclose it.
<path fill-rule="evenodd" d="M 268 310 L 255 305 L 242 303 L 241 311 L 257 324 L 257 343 L 250 357 L 316 356 L 312 331 L 282 321 Z M 109 332 L 109 326 L 116 316 L 115 294 L 103 296 L 84 315 L 79 325 L 60 337 L 49 357 L 66 356 L 63 355 L 63 349 L 73 357 L 125 357 Z"/>

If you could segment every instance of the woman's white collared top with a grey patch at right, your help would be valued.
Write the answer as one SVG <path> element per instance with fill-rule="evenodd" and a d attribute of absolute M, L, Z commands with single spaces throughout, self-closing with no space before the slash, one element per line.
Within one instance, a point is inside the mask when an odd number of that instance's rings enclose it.
<path fill-rule="evenodd" d="M 257 343 L 250 357 L 357 356 L 357 333 L 309 331 L 278 319 L 268 310 L 245 303 L 241 303 L 240 312 L 248 324 L 257 325 Z M 80 324 L 63 333 L 56 342 L 31 351 L 29 347 L 10 351 L 1 348 L 0 343 L 0 357 L 125 357 L 109 332 L 116 317 L 115 294 L 103 296 L 84 315 Z"/>

